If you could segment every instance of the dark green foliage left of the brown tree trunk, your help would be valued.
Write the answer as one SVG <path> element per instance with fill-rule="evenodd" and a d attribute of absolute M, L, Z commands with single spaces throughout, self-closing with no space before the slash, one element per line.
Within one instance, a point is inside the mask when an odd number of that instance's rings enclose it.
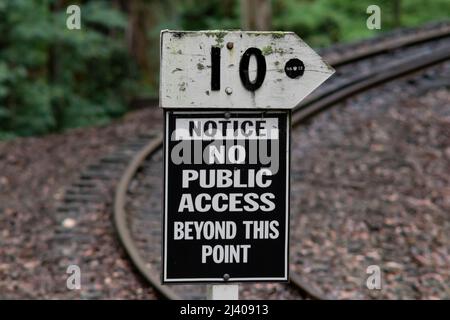
<path fill-rule="evenodd" d="M 106 123 L 134 94 L 126 17 L 88 1 L 81 30 L 69 30 L 54 3 L 0 2 L 0 139 Z"/>

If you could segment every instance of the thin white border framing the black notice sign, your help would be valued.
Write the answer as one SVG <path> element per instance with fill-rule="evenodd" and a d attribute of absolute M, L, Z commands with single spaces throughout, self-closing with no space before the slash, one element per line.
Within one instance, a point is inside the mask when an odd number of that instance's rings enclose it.
<path fill-rule="evenodd" d="M 286 230 L 285 230 L 285 248 L 284 248 L 284 259 L 285 259 L 285 270 L 284 270 L 284 277 L 254 277 L 254 278 L 233 278 L 230 277 L 227 281 L 224 281 L 223 278 L 171 278 L 167 279 L 167 181 L 168 181 L 168 145 L 169 145 L 169 117 L 166 114 L 166 112 L 171 112 L 172 114 L 189 114 L 192 115 L 193 111 L 174 111 L 174 110 L 166 110 L 164 113 L 165 122 L 164 122 L 164 133 L 165 133 L 165 139 L 164 139 L 164 217 L 163 217 L 163 248 L 162 248 L 162 256 L 163 256 L 163 275 L 162 275 L 162 282 L 163 283 L 170 283 L 170 282 L 221 282 L 221 283 L 228 283 L 228 282 L 236 282 L 236 281 L 246 281 L 246 282 L 256 282 L 256 281 L 288 281 L 289 280 L 289 212 L 290 212 L 290 150 L 291 150 L 291 141 L 289 139 L 290 132 L 291 132 L 291 114 L 289 110 L 230 110 L 228 112 L 231 113 L 239 113 L 239 114 L 254 114 L 257 112 L 273 112 L 273 113 L 287 113 L 286 117 Z M 211 113 L 217 113 L 217 114 L 224 114 L 224 112 L 227 111 L 195 111 L 195 113 L 198 114 L 211 114 Z"/>

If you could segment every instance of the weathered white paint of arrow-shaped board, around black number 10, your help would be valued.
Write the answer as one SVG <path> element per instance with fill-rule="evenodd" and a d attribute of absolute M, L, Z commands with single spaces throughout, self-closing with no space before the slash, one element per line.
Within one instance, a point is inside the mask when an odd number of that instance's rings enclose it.
<path fill-rule="evenodd" d="M 230 50 L 226 44 L 233 43 Z M 221 88 L 211 90 L 211 47 L 221 50 Z M 248 91 L 239 77 L 239 62 L 250 47 L 259 48 L 267 72 L 264 83 Z M 286 62 L 298 58 L 303 76 L 291 79 Z M 250 60 L 250 79 L 256 63 Z M 322 58 L 293 32 L 171 31 L 161 32 L 160 106 L 163 108 L 291 109 L 333 73 Z M 252 77 L 253 74 L 253 77 Z M 229 88 L 229 89 L 227 89 Z M 227 94 L 226 90 L 231 91 Z"/>

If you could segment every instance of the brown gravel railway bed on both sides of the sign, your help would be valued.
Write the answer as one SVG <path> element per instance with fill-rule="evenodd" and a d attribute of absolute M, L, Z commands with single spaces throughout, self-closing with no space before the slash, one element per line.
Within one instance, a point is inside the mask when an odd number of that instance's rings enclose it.
<path fill-rule="evenodd" d="M 448 25 L 424 30 L 443 28 Z M 348 46 L 349 51 L 345 47 L 338 51 L 345 55 L 402 36 L 393 34 L 380 42 L 366 41 L 359 47 Z M 298 284 L 303 287 L 246 284 L 242 298 L 450 297 L 450 65 L 436 64 L 445 60 L 448 45 L 448 38 L 440 36 L 432 44 L 379 50 L 376 56 L 351 60 L 299 106 L 294 116 L 299 126 L 292 132 L 291 272 L 301 277 Z M 392 66 L 423 62 L 432 52 L 442 55 L 435 54 L 436 61 L 424 63 L 426 70 L 416 70 L 408 77 L 404 71 L 377 79 L 384 74 L 383 68 L 402 71 Z M 436 65 L 429 67 L 431 64 Z M 403 77 L 398 78 L 400 75 Z M 378 82 L 370 80 L 374 78 Z M 388 80 L 391 82 L 361 93 Z M 366 87 L 352 87 L 364 81 Z M 352 90 L 360 94 L 336 104 L 330 98 L 336 95 L 333 88 L 346 90 L 348 96 Z M 139 126 L 133 128 L 136 124 Z M 91 130 L 97 141 L 89 151 L 79 151 L 83 141 L 74 137 L 92 137 L 78 131 L 66 136 L 72 150 L 59 146 L 64 138 L 49 137 L 54 139 L 53 145 L 48 140 L 20 141 L 17 145 L 27 145 L 29 154 L 13 156 L 16 160 L 0 158 L 5 169 L 0 174 L 0 188 L 6 195 L 10 190 L 9 194 L 16 196 L 0 198 L 5 200 L 0 204 L 5 213 L 0 224 L 8 226 L 2 228 L 6 246 L 0 249 L 5 257 L 0 262 L 0 278 L 6 279 L 0 283 L 0 291 L 5 297 L 157 297 L 128 260 L 130 250 L 123 250 L 117 239 L 112 205 L 131 159 L 149 142 L 154 143 L 161 127 L 161 112 L 149 109 L 128 124 L 125 120 L 112 126 L 116 129 L 98 129 L 108 133 Z M 0 153 L 19 154 L 15 143 L 0 146 Z M 45 153 L 51 156 L 45 157 L 47 162 L 36 159 L 34 154 L 42 149 L 33 152 L 35 143 L 48 143 Z M 55 157 L 52 148 L 64 154 Z M 68 154 L 73 155 L 71 160 L 65 159 Z M 58 159 L 64 160 L 64 166 L 54 173 L 51 168 L 58 166 Z M 87 159 L 91 164 L 86 168 Z M 35 161 L 42 166 L 41 176 Z M 76 178 L 82 167 L 85 169 Z M 128 230 L 147 271 L 158 278 L 161 152 L 156 150 L 137 167 L 138 173 L 131 176 L 122 194 L 126 213 L 122 227 Z M 18 168 L 24 169 L 28 179 L 14 177 L 12 169 Z M 74 182 L 62 190 L 67 172 Z M 27 182 L 30 185 L 25 187 Z M 39 190 L 41 184 L 47 188 Z M 58 201 L 60 205 L 53 205 Z M 76 292 L 65 287 L 65 268 L 71 263 L 83 272 L 82 290 Z M 365 271 L 371 264 L 383 270 L 381 291 L 365 288 Z M 195 290 L 193 286 L 172 286 L 181 297 L 202 298 L 202 290 L 201 286 Z"/>

